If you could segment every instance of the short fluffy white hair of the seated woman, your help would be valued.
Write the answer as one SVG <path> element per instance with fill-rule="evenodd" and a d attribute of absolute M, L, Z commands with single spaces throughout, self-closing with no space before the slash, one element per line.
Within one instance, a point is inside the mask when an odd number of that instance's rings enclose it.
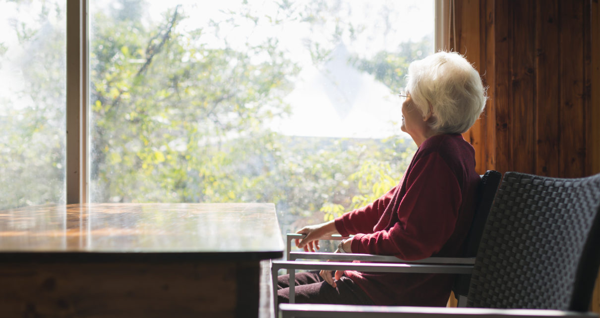
<path fill-rule="evenodd" d="M 469 130 L 487 100 L 479 73 L 456 52 L 438 52 L 410 63 L 406 89 L 421 114 L 433 110 L 430 127 L 442 134 Z"/>

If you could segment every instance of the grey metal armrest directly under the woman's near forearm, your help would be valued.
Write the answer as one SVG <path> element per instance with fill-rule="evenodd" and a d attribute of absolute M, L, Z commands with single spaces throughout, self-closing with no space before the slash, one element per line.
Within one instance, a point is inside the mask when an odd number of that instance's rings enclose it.
<path fill-rule="evenodd" d="M 475 258 L 425 258 L 416 261 L 405 261 L 395 256 L 358 254 L 358 253 L 313 253 L 313 252 L 290 252 L 289 260 L 296 259 L 330 259 L 332 261 L 371 261 L 391 263 L 425 263 L 425 264 L 475 264 Z"/>

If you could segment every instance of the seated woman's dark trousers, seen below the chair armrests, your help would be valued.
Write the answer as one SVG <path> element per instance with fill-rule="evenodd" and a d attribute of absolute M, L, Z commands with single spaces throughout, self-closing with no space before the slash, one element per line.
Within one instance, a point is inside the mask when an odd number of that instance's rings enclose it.
<path fill-rule="evenodd" d="M 345 275 L 331 287 L 319 271 L 296 273 L 295 302 L 298 304 L 374 305 L 373 301 L 352 279 Z M 278 304 L 290 299 L 289 275 L 277 277 Z"/>

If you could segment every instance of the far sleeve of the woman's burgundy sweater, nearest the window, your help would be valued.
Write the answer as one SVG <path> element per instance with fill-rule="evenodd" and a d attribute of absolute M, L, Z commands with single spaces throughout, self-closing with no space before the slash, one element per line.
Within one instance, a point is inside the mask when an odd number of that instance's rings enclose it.
<path fill-rule="evenodd" d="M 373 228 L 394 197 L 400 185 L 393 187 L 388 193 L 365 207 L 344 213 L 335 219 L 335 229 L 344 237 L 350 234 L 373 233 Z"/>

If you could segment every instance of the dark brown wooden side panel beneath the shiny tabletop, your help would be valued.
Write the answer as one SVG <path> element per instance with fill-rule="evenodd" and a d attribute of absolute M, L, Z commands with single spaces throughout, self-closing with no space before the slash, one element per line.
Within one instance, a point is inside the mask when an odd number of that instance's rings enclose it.
<path fill-rule="evenodd" d="M 233 264 L 0 264 L 1 317 L 252 317 L 258 301 L 236 304 L 238 272 L 256 262 Z M 230 297 L 227 297 L 230 295 Z M 252 298 L 253 299 L 253 298 Z"/>

